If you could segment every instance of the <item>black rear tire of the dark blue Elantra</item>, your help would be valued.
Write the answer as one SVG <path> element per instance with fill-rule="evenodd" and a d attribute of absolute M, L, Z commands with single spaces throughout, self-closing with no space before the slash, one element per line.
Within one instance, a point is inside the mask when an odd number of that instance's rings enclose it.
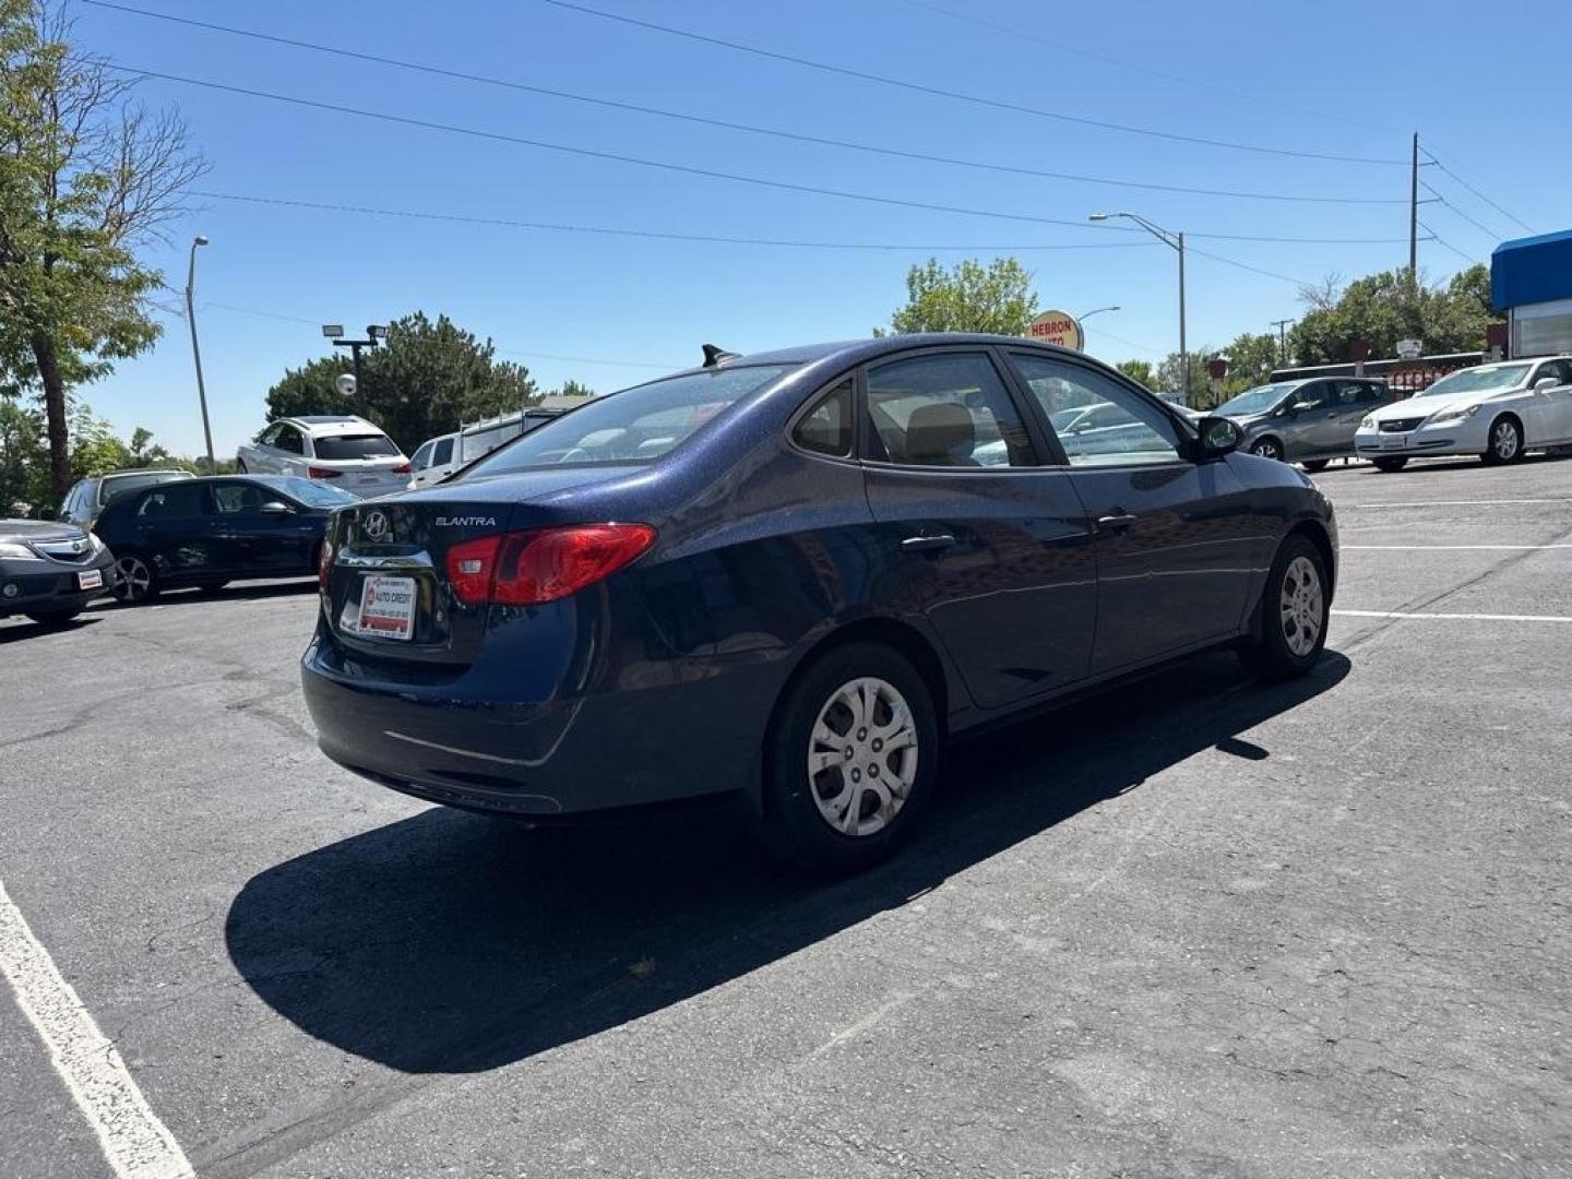
<path fill-rule="evenodd" d="M 913 744 L 883 750 L 877 731 L 855 728 L 855 715 L 836 698 L 858 679 L 877 679 L 905 704 L 910 725 L 898 733 L 910 733 Z M 814 728 L 821 712 L 830 733 L 841 740 L 838 723 L 846 723 L 846 758 L 827 764 L 810 775 L 810 758 L 833 753 L 816 740 Z M 898 723 L 883 695 L 876 696 L 877 718 Z M 899 739 L 899 737 L 896 737 Z M 915 766 L 907 762 L 904 748 L 912 748 Z M 905 767 L 902 770 L 902 766 Z M 910 784 L 904 795 L 887 789 L 902 772 Z M 866 777 L 863 777 L 866 775 Z M 855 784 L 852 780 L 857 780 Z M 762 822 L 770 847 L 784 858 L 819 872 L 844 874 L 871 868 L 890 857 L 921 819 L 938 780 L 938 722 L 927 684 L 916 668 L 891 648 L 879 643 L 847 643 L 817 657 L 788 685 L 775 707 L 775 718 L 764 747 Z M 879 783 L 869 786 L 865 783 Z M 850 794 L 841 811 L 857 817 L 850 822 L 869 827 L 852 835 L 832 827 L 827 810 L 833 800 Z M 891 802 L 885 802 L 885 799 Z M 893 802 L 899 797 L 901 802 Z M 822 802 L 821 802 L 822 800 Z M 888 816 L 880 811 L 893 806 Z"/>

